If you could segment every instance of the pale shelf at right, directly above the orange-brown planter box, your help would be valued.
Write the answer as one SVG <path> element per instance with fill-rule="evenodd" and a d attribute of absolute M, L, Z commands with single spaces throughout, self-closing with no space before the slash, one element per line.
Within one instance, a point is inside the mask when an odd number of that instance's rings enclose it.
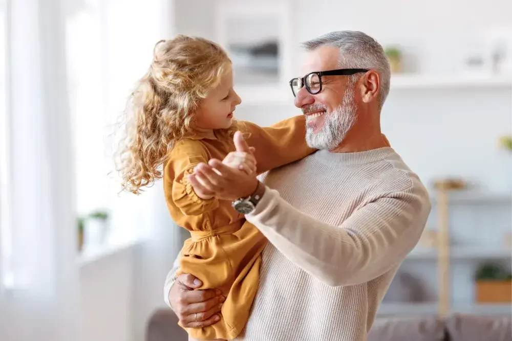
<path fill-rule="evenodd" d="M 503 259 L 512 258 L 512 249 L 506 247 L 451 246 L 451 259 Z M 437 249 L 417 247 L 411 251 L 406 260 L 437 259 Z"/>

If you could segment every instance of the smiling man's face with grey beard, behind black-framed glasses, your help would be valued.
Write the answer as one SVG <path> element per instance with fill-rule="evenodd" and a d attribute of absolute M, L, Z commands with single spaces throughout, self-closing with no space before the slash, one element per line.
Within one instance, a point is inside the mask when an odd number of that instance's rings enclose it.
<path fill-rule="evenodd" d="M 339 69 L 339 49 L 330 46 L 308 52 L 303 76 L 310 72 Z M 348 76 L 323 76 L 322 91 L 311 95 L 302 87 L 295 106 L 306 115 L 306 141 L 316 149 L 333 149 L 342 143 L 357 118 L 354 84 Z"/>

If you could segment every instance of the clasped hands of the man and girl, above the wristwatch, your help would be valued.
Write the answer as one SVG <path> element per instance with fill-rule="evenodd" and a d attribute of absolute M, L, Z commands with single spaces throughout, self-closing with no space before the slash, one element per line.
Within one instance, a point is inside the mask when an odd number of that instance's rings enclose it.
<path fill-rule="evenodd" d="M 198 164 L 194 173 L 188 175 L 200 198 L 233 201 L 251 195 L 258 187 L 254 148 L 247 145 L 240 131 L 234 133 L 233 141 L 236 151 L 223 161 L 212 158 L 207 164 Z"/>

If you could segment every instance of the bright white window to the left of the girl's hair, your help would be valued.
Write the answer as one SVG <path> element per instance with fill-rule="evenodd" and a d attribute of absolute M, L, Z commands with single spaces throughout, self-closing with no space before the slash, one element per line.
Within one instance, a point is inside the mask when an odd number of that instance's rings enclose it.
<path fill-rule="evenodd" d="M 66 22 L 77 213 L 109 211 L 110 233 L 119 233 L 115 239 L 139 234 L 135 215 L 140 204 L 134 194 L 118 195 L 121 187 L 108 139 L 161 38 L 152 13 L 151 6 L 86 0 Z M 138 25 L 133 25 L 134 18 Z"/>

